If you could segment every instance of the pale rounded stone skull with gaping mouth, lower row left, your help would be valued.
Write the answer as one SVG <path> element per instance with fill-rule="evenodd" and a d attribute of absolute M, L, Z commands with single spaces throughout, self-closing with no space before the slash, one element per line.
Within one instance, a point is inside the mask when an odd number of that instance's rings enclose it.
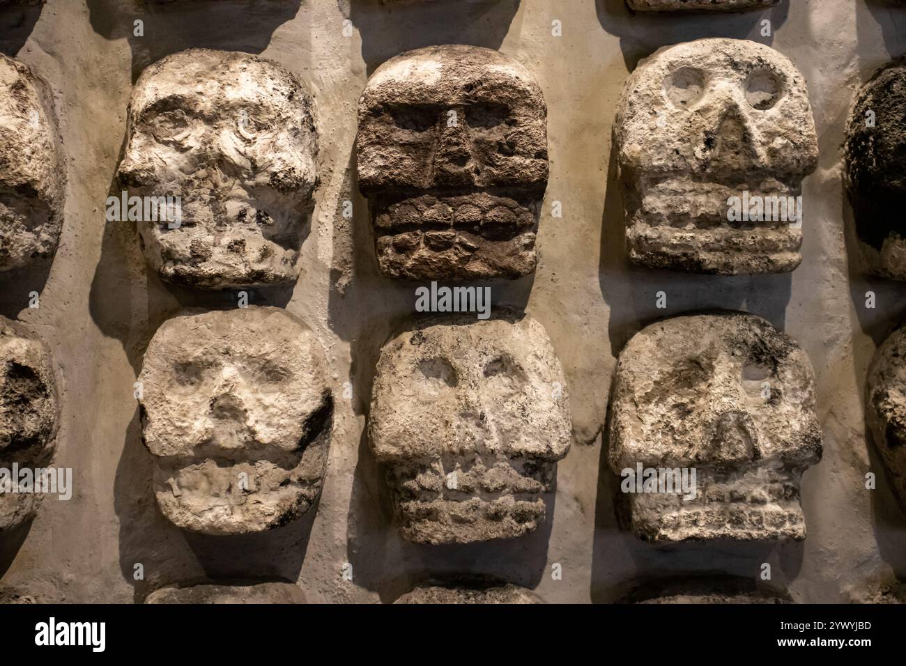
<path fill-rule="evenodd" d="M 208 535 L 261 532 L 321 492 L 333 420 L 323 350 L 275 307 L 187 312 L 140 373 L 145 445 L 164 516 Z"/>

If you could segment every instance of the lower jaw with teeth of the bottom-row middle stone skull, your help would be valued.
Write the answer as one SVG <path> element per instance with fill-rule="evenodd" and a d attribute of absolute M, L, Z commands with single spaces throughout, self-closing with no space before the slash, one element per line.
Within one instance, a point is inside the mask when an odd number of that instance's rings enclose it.
<path fill-rule="evenodd" d="M 494 501 L 405 501 L 398 505 L 400 533 L 417 544 L 470 544 L 515 538 L 545 521 L 545 503 L 501 497 Z"/>

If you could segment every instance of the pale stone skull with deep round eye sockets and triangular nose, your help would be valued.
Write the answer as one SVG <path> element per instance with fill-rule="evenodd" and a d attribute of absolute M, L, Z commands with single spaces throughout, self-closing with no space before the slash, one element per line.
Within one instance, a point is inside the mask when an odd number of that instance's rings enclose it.
<path fill-rule="evenodd" d="M 623 89 L 614 142 L 632 263 L 736 275 L 802 262 L 789 207 L 801 213 L 818 144 L 805 80 L 784 55 L 733 39 L 660 49 Z"/>

